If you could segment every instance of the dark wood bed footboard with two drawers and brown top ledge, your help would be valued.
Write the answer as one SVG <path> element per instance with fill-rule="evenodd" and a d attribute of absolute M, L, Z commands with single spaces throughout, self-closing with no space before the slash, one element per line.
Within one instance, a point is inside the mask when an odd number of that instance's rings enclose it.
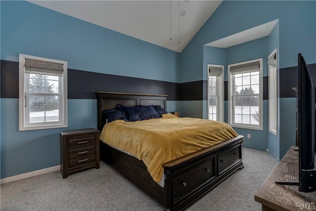
<path fill-rule="evenodd" d="M 243 136 L 218 146 L 198 151 L 163 164 L 166 174 L 167 204 L 165 210 L 183 210 L 242 169 L 241 143 Z"/>

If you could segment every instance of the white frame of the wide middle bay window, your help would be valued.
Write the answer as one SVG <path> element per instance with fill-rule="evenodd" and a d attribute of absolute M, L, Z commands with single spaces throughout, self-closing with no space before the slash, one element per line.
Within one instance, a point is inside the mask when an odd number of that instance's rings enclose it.
<path fill-rule="evenodd" d="M 234 80 L 234 75 L 229 71 L 231 66 L 236 66 L 236 65 L 242 65 L 242 64 L 247 64 L 251 62 L 257 62 L 259 61 L 260 63 L 260 68 L 259 68 L 259 126 L 254 126 L 254 125 L 249 125 L 249 124 L 237 124 L 234 123 L 234 117 L 233 115 L 235 114 L 234 111 L 234 104 L 233 104 L 233 91 L 235 90 L 235 84 L 232 85 L 232 83 L 235 83 Z M 263 59 L 254 59 L 250 61 L 245 61 L 245 62 L 239 62 L 235 64 L 230 64 L 228 65 L 228 122 L 232 127 L 238 127 L 238 128 L 244 128 L 244 129 L 255 129 L 255 130 L 263 130 L 263 76 L 262 76 L 262 63 Z"/>

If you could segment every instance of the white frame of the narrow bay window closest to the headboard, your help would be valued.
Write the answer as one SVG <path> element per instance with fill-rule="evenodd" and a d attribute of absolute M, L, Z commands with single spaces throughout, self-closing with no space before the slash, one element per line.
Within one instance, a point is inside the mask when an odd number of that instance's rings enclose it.
<path fill-rule="evenodd" d="M 220 76 L 217 76 L 218 80 L 216 83 L 217 91 L 218 91 L 218 99 L 217 99 L 217 111 L 216 117 L 217 121 L 224 122 L 224 65 L 207 65 L 207 119 L 209 120 L 209 67 L 221 67 L 223 72 Z"/>

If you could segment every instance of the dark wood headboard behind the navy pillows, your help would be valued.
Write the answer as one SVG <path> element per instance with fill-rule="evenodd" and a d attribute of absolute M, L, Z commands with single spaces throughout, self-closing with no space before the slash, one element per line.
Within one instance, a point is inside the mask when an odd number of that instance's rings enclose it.
<path fill-rule="evenodd" d="M 166 100 L 168 95 L 164 94 L 136 94 L 120 92 L 95 92 L 98 99 L 98 129 L 102 130 L 102 112 L 106 109 L 117 108 L 118 104 L 123 106 L 135 105 L 160 105 L 166 110 Z"/>

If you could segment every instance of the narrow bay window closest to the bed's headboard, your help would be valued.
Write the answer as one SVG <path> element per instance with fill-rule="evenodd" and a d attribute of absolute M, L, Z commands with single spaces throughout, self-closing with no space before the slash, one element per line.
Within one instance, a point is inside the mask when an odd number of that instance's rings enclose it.
<path fill-rule="evenodd" d="M 208 119 L 214 121 L 224 121 L 224 78 L 223 65 L 207 65 L 208 74 Z"/>

